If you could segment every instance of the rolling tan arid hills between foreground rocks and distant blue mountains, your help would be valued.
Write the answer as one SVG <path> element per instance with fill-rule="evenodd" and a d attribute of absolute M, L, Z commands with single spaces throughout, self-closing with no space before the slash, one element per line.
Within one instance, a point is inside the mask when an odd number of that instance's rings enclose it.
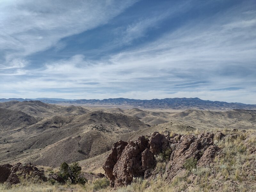
<path fill-rule="evenodd" d="M 255 110 L 84 108 L 41 101 L 0 103 L 0 117 L 0 163 L 58 167 L 63 161 L 79 161 L 84 170 L 96 172 L 102 171 L 96 157 L 106 156 L 118 140 L 156 131 L 250 130 L 256 125 Z"/>

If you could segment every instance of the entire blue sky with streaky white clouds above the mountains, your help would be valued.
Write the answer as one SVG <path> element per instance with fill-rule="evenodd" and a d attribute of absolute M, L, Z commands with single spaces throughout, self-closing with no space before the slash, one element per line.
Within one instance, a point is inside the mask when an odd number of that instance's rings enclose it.
<path fill-rule="evenodd" d="M 0 98 L 256 104 L 255 0 L 0 0 Z"/>

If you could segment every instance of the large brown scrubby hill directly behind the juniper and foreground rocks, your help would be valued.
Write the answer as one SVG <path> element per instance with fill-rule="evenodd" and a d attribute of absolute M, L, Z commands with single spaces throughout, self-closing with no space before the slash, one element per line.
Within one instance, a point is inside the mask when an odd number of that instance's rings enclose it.
<path fill-rule="evenodd" d="M 59 166 L 108 151 L 119 134 L 144 129 L 136 117 L 118 113 L 91 112 L 81 116 L 53 116 L 9 134 L 0 151 L 0 161 L 30 160 Z M 19 140 L 19 141 L 18 141 Z M 6 152 L 6 151 L 10 152 Z M 15 160 L 16 159 L 16 160 Z"/>

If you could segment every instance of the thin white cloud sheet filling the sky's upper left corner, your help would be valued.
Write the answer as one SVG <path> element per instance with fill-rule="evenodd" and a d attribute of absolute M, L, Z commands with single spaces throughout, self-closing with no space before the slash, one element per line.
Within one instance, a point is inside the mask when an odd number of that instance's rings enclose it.
<path fill-rule="evenodd" d="M 5 65 L 10 65 L 14 58 L 48 49 L 63 37 L 105 24 L 134 2 L 2 1 L 0 51 L 4 54 Z"/>

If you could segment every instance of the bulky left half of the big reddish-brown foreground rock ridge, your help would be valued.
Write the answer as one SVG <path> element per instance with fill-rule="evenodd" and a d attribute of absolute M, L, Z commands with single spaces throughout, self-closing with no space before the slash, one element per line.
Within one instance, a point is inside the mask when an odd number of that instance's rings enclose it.
<path fill-rule="evenodd" d="M 103 165 L 110 185 L 124 186 L 132 182 L 133 177 L 148 177 L 148 170 L 156 166 L 155 155 L 169 149 L 167 136 L 155 132 L 148 138 L 141 136 L 129 143 L 114 143 L 112 152 Z M 146 172 L 146 175 L 145 175 Z"/>

